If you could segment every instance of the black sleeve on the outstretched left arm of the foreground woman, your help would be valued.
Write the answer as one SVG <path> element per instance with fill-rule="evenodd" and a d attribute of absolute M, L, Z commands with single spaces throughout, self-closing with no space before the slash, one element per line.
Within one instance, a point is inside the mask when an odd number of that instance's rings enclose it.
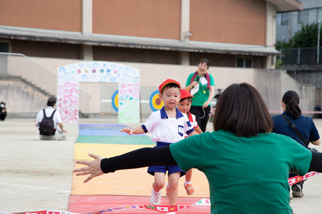
<path fill-rule="evenodd" d="M 101 170 L 104 173 L 120 169 L 174 165 L 178 164 L 171 155 L 170 146 L 142 148 L 112 158 L 104 158 L 100 162 Z"/>

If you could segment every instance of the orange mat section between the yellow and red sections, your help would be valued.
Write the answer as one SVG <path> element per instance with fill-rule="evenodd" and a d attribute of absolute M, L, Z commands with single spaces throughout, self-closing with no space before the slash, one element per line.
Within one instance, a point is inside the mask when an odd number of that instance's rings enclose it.
<path fill-rule="evenodd" d="M 74 169 L 84 165 L 74 164 Z M 147 173 L 147 167 L 139 169 L 118 170 L 114 173 L 94 177 L 83 183 L 88 175 L 75 176 L 73 174 L 71 195 L 130 195 L 151 196 L 154 177 Z M 166 175 L 167 182 L 167 175 Z M 204 173 L 193 169 L 192 184 L 195 194 L 187 195 L 184 188 L 185 176 L 179 179 L 179 197 L 209 198 L 209 184 Z M 162 196 L 166 194 L 166 187 L 162 189 Z M 149 203 L 149 201 L 147 201 Z"/>

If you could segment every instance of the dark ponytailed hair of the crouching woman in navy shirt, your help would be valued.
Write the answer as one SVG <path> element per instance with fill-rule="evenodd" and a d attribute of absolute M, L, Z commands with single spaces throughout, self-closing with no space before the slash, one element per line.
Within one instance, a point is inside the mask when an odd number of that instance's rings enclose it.
<path fill-rule="evenodd" d="M 286 113 L 293 119 L 298 119 L 302 114 L 302 111 L 298 104 L 300 103 L 300 97 L 296 91 L 286 91 L 283 95 L 282 102 L 286 104 Z"/>

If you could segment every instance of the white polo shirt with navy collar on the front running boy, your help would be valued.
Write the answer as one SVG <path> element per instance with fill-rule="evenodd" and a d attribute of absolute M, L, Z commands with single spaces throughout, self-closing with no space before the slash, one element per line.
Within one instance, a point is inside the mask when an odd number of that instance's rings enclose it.
<path fill-rule="evenodd" d="M 164 107 L 152 112 L 146 122 L 142 125 L 145 133 L 152 133 L 152 142 L 175 143 L 185 139 L 185 133 L 194 131 L 186 115 L 177 108 L 176 118 L 168 118 Z"/>

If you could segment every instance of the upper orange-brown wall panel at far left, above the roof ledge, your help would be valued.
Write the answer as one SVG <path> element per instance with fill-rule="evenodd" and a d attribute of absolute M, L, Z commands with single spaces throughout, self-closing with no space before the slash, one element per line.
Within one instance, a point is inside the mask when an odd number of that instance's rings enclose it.
<path fill-rule="evenodd" d="M 81 0 L 2 0 L 0 25 L 81 32 Z"/>

